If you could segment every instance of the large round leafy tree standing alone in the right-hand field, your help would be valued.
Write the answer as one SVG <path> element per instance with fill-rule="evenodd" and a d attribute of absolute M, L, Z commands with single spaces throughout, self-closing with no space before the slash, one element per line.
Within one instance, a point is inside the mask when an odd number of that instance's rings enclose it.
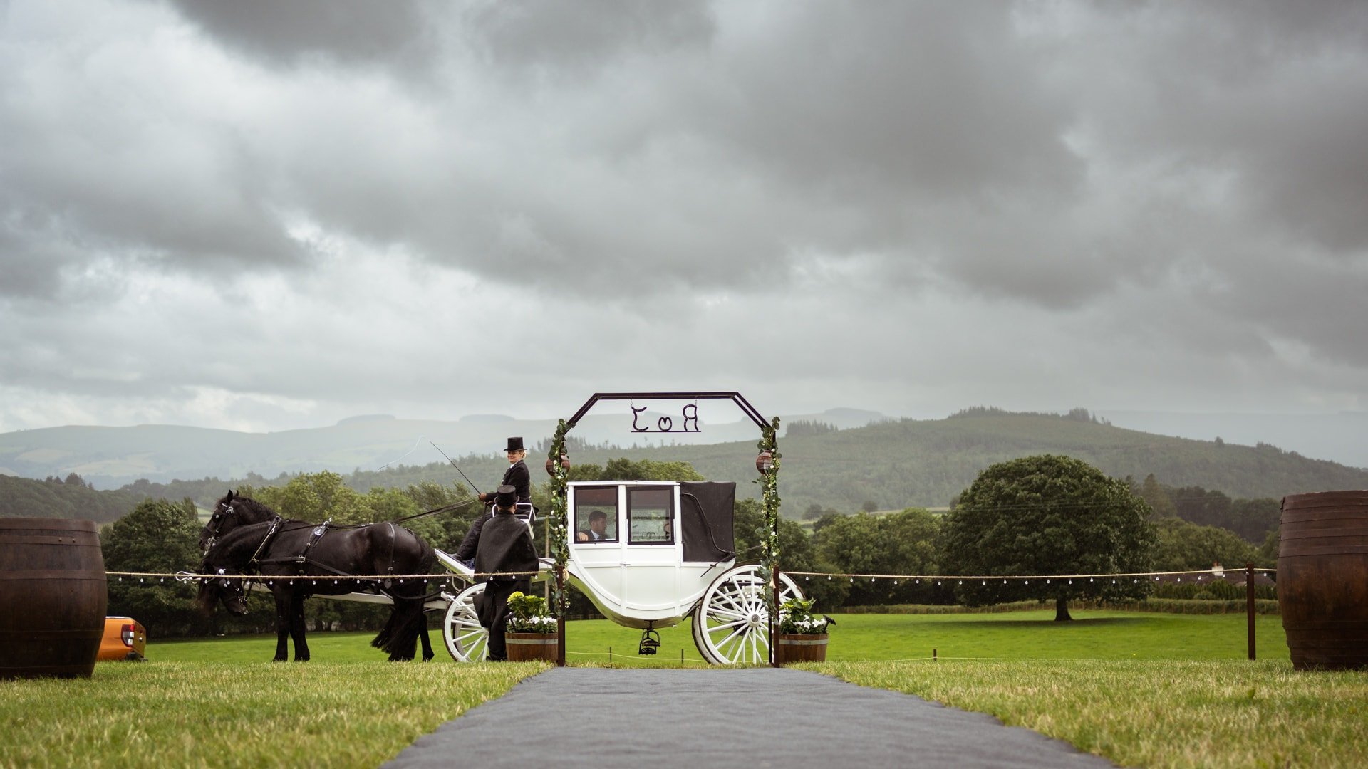
<path fill-rule="evenodd" d="M 1130 486 L 1097 468 L 1056 454 L 1000 462 L 964 490 L 943 524 L 945 573 L 1025 576 L 1145 572 L 1157 538 L 1149 505 Z M 1048 579 L 1048 577 L 1047 577 Z M 1055 618 L 1070 620 L 1071 598 L 1138 598 L 1148 580 L 964 580 L 970 605 L 1055 599 Z"/>

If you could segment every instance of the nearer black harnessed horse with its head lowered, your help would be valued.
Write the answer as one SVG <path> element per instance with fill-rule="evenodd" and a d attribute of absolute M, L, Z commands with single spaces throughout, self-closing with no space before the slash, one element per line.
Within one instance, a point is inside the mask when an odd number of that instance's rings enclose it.
<path fill-rule="evenodd" d="M 323 530 L 321 535 L 319 530 Z M 301 560 L 302 558 L 302 560 Z M 423 640 L 423 660 L 432 658 L 423 602 L 427 586 L 421 579 L 389 579 L 386 575 L 425 575 L 436 565 L 436 553 L 412 531 L 391 523 L 357 527 L 328 527 L 272 517 L 265 523 L 237 525 L 219 534 L 204 556 L 196 598 L 209 614 L 218 603 L 234 614 L 248 610 L 242 583 L 253 571 L 275 597 L 275 661 L 289 657 L 286 638 L 294 639 L 294 661 L 309 660 L 304 639 L 304 599 L 309 595 L 341 595 L 368 590 L 394 601 L 390 618 L 371 646 L 390 654 L 390 661 L 413 660 Z M 309 579 L 272 579 L 280 576 Z M 373 580 L 343 579 L 343 575 L 376 576 Z"/>

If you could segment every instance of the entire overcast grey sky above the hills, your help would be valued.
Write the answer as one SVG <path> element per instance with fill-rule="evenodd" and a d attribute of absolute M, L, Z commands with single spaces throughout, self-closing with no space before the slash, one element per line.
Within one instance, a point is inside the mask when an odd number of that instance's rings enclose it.
<path fill-rule="evenodd" d="M 1360 1 L 0 0 L 0 431 L 1368 409 Z"/>

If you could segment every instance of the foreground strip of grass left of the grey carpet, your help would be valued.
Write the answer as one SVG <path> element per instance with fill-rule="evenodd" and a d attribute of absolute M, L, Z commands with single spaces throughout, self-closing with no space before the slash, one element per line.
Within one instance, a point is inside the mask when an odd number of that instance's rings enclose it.
<path fill-rule="evenodd" d="M 0 681 L 0 766 L 376 766 L 543 669 L 101 662 Z"/>

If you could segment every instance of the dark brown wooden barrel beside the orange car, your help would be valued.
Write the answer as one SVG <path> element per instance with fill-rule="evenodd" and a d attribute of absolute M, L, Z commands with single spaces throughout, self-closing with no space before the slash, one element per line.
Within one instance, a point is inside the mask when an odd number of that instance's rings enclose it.
<path fill-rule="evenodd" d="M 94 521 L 0 519 L 0 679 L 89 679 L 107 601 Z"/>

